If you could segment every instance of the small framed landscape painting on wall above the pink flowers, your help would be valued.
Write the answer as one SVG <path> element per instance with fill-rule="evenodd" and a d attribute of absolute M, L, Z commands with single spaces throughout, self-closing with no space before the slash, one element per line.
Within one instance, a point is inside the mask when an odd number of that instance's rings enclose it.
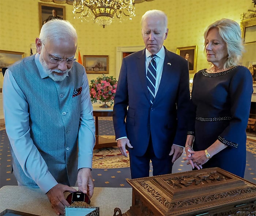
<path fill-rule="evenodd" d="M 83 56 L 86 73 L 109 73 L 109 56 Z"/>

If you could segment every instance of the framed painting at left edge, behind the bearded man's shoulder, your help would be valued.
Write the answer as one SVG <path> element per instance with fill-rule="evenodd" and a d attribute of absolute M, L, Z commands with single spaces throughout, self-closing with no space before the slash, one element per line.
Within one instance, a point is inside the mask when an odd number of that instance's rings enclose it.
<path fill-rule="evenodd" d="M 24 58 L 24 53 L 0 50 L 0 71 L 3 67 L 8 67 L 22 58 Z"/>

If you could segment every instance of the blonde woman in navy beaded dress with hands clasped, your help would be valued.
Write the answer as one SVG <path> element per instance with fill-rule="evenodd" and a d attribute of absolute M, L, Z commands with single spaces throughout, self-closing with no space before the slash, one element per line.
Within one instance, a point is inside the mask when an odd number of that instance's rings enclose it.
<path fill-rule="evenodd" d="M 244 177 L 253 88 L 251 73 L 238 65 L 244 49 L 239 24 L 212 23 L 204 47 L 211 65 L 193 79 L 185 160 L 192 168 L 220 167 Z"/>

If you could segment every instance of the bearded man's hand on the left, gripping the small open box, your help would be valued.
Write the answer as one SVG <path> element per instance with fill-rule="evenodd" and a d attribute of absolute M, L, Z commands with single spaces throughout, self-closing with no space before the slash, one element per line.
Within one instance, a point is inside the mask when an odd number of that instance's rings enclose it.
<path fill-rule="evenodd" d="M 75 192 L 76 190 L 67 185 L 57 184 L 46 193 L 50 203 L 52 204 L 52 208 L 57 215 L 64 215 L 64 206 L 69 206 L 69 203 L 65 200 L 63 194 L 65 191 Z"/>

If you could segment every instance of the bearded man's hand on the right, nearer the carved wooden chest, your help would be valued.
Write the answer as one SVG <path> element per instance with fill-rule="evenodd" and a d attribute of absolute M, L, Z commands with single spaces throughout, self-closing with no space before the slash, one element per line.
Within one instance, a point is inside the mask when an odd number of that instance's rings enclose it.
<path fill-rule="evenodd" d="M 93 196 L 94 183 L 91 176 L 90 168 L 82 168 L 78 172 L 77 176 L 78 190 L 86 193 L 89 198 Z"/>

